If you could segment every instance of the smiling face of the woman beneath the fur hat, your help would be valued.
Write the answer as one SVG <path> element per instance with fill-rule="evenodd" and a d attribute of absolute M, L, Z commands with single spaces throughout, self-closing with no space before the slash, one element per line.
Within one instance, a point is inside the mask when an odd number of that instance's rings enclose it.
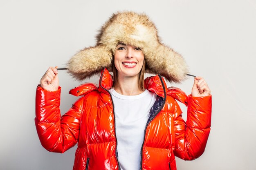
<path fill-rule="evenodd" d="M 117 45 L 114 62 L 119 77 L 138 76 L 143 66 L 143 61 L 144 54 L 139 47 L 124 43 Z"/>

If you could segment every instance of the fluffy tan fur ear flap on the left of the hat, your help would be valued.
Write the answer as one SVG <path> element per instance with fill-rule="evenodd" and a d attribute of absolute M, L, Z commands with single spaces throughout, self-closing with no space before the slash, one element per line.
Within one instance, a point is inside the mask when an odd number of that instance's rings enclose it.
<path fill-rule="evenodd" d="M 85 48 L 69 60 L 68 72 L 76 79 L 83 80 L 100 73 L 104 67 L 111 67 L 112 52 L 106 46 Z"/>

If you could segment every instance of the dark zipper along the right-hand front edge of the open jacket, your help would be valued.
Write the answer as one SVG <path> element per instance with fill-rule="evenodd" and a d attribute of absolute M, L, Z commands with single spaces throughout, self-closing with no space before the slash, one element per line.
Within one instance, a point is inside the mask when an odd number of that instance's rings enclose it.
<path fill-rule="evenodd" d="M 158 77 L 160 78 L 161 80 L 161 83 L 162 83 L 162 86 L 164 88 L 164 101 L 162 103 L 162 105 L 158 108 L 157 110 L 157 113 L 154 115 L 154 117 L 152 117 L 150 119 L 150 121 L 147 122 L 146 124 L 146 127 L 145 127 L 145 130 L 144 130 L 144 137 L 143 137 L 143 143 L 141 145 L 141 150 L 140 150 L 140 155 L 141 155 L 141 162 L 140 162 L 140 169 L 142 170 L 142 161 L 143 161 L 143 156 L 142 156 L 142 150 L 143 150 L 143 146 L 144 146 L 144 142 L 145 142 L 145 137 L 146 137 L 146 131 L 147 131 L 147 128 L 148 128 L 148 124 L 150 124 L 150 122 L 155 119 L 155 117 L 158 115 L 158 113 L 162 110 L 162 108 L 164 107 L 164 104 L 165 104 L 165 101 L 166 101 L 166 91 L 165 91 L 165 87 L 164 87 L 164 82 L 162 80 L 162 76 L 160 74 L 158 74 Z M 169 167 L 170 167 L 170 164 L 169 164 Z"/>

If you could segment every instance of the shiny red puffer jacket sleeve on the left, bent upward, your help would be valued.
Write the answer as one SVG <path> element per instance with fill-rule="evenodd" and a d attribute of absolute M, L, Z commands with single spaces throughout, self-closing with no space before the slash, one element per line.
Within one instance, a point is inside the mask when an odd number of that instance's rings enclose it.
<path fill-rule="evenodd" d="M 61 117 L 60 94 L 61 87 L 51 92 L 38 85 L 35 124 L 42 146 L 50 152 L 63 153 L 78 141 L 83 97 Z"/>

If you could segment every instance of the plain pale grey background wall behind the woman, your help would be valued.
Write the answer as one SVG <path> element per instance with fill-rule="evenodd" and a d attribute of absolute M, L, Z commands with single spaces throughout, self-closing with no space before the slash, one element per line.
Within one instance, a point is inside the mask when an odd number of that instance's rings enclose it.
<path fill-rule="evenodd" d="M 65 66 L 113 12 L 146 12 L 162 42 L 181 53 L 191 74 L 213 95 L 212 130 L 204 154 L 177 158 L 178 170 L 256 170 L 255 0 L 1 0 L 0 170 L 71 170 L 76 146 L 45 150 L 34 125 L 35 90 L 49 66 Z M 77 99 L 74 81 L 59 71 L 61 110 Z M 84 82 L 98 83 L 98 77 Z M 191 93 L 193 78 L 178 86 Z M 182 106 L 184 117 L 186 108 Z"/>

